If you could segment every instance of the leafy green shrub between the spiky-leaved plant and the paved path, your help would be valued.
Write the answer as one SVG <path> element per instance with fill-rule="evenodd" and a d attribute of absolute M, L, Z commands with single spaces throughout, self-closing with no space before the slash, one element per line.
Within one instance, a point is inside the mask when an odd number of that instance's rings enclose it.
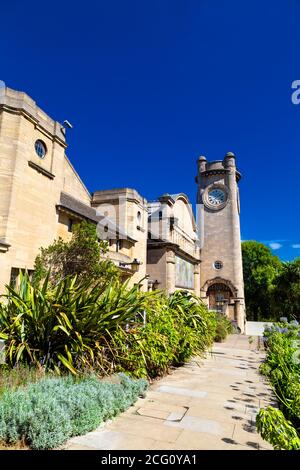
<path fill-rule="evenodd" d="M 160 293 L 149 300 L 146 313 L 145 326 L 135 322 L 128 331 L 119 328 L 112 335 L 117 370 L 153 378 L 203 354 L 213 342 L 215 316 L 195 296 Z"/>

